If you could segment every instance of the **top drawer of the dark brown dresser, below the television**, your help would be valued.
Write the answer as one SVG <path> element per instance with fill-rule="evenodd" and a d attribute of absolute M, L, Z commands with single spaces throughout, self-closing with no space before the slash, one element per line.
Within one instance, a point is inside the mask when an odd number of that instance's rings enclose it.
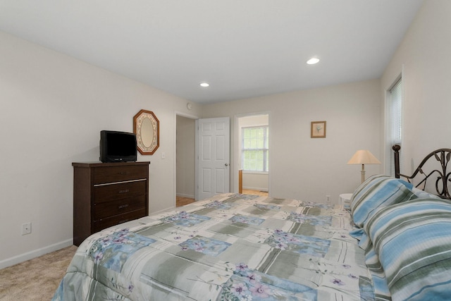
<path fill-rule="evenodd" d="M 120 163 L 118 163 L 120 164 Z M 94 168 L 94 185 L 147 178 L 149 166 L 109 166 Z"/>

